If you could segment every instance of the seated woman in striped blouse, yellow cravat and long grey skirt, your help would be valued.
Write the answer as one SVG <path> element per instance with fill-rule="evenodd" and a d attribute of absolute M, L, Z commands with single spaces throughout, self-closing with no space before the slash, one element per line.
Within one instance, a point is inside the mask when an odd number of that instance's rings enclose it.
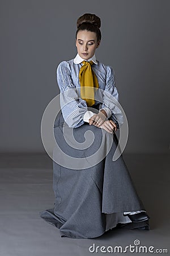
<path fill-rule="evenodd" d="M 54 208 L 41 212 L 41 217 L 62 237 L 99 237 L 117 225 L 149 229 L 149 217 L 122 155 L 112 160 L 118 146 L 115 132 L 123 118 L 113 100 L 118 101 L 113 69 L 95 57 L 100 18 L 84 14 L 77 28 L 78 53 L 57 68 L 61 111 L 54 135 L 62 153 L 53 152 Z M 95 138 L 85 136 L 86 131 Z"/>

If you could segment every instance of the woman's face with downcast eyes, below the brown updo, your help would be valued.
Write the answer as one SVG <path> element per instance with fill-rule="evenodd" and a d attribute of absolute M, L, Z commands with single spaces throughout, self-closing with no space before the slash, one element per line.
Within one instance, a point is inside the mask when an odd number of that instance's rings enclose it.
<path fill-rule="evenodd" d="M 78 32 L 76 36 L 76 48 L 79 56 L 82 57 L 82 59 L 91 59 L 99 45 L 100 41 L 97 42 L 97 36 L 95 32 L 87 30 L 80 30 Z"/>

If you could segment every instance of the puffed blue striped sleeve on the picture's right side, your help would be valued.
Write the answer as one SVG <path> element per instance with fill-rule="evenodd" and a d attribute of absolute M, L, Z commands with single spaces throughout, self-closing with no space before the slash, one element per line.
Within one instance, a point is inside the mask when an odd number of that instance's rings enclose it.
<path fill-rule="evenodd" d="M 117 128 L 120 129 L 121 125 L 124 123 L 124 118 L 121 109 L 117 105 L 117 101 L 118 91 L 114 79 L 114 71 L 112 67 L 107 66 L 106 85 L 103 92 L 103 104 L 101 108 L 111 110 L 111 117 L 109 119 L 112 119 L 113 122 L 116 123 Z"/>

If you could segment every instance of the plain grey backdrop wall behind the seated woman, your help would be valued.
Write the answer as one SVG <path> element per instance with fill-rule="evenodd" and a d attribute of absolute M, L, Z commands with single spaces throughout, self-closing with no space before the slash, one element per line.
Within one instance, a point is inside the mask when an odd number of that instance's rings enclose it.
<path fill-rule="evenodd" d="M 1 0 L 1 152 L 45 152 L 40 125 L 76 55 L 76 19 L 101 18 L 96 57 L 116 73 L 129 122 L 125 152 L 169 152 L 169 1 Z"/>

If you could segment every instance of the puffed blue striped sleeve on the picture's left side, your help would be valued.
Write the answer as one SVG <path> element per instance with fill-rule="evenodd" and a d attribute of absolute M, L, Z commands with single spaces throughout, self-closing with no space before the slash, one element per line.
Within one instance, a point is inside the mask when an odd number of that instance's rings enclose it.
<path fill-rule="evenodd" d="M 57 83 L 60 89 L 60 105 L 65 122 L 73 128 L 83 125 L 83 117 L 88 110 L 87 103 L 78 96 L 67 61 L 62 61 L 57 67 Z"/>

